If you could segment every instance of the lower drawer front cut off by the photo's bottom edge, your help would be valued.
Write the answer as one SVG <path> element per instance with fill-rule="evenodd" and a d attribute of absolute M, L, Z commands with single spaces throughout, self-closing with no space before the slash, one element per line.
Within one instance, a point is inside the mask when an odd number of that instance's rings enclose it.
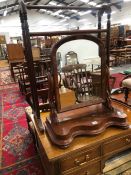
<path fill-rule="evenodd" d="M 82 166 L 78 169 L 74 169 L 63 175 L 97 175 L 101 174 L 101 163 L 100 161 L 90 163 L 87 166 Z"/>

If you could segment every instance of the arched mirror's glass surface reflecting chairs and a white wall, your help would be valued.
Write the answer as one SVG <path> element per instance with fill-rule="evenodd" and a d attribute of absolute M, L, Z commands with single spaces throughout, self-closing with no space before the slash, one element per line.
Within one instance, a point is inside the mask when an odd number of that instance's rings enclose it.
<path fill-rule="evenodd" d="M 61 76 L 61 108 L 99 101 L 102 85 L 98 45 L 89 40 L 77 39 L 62 44 L 57 53 L 61 55 L 57 65 Z"/>

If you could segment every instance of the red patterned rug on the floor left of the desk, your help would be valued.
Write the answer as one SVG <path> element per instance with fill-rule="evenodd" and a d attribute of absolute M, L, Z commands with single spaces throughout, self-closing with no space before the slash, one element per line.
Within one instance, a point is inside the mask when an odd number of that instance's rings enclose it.
<path fill-rule="evenodd" d="M 1 87 L 1 86 L 0 86 Z M 44 175 L 28 130 L 25 107 L 28 104 L 18 85 L 0 89 L 0 174 Z"/>

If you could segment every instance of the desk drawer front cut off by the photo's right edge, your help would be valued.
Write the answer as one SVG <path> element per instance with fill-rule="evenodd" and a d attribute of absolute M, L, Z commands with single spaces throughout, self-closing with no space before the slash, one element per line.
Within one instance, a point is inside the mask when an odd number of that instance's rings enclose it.
<path fill-rule="evenodd" d="M 110 142 L 106 142 L 103 146 L 104 155 L 117 151 L 119 149 L 129 147 L 131 146 L 131 134 L 120 137 L 119 139 L 111 140 Z"/>

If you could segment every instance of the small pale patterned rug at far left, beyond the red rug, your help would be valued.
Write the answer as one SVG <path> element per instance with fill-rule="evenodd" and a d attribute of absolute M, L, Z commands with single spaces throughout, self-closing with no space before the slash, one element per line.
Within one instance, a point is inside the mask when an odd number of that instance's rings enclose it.
<path fill-rule="evenodd" d="M 9 67 L 0 68 L 0 86 L 14 83 Z"/>

